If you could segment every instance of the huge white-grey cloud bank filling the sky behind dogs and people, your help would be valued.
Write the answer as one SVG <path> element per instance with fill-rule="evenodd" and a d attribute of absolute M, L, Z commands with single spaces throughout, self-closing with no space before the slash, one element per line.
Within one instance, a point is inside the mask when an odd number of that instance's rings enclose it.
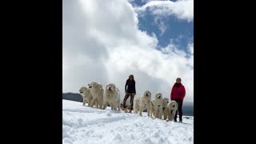
<path fill-rule="evenodd" d="M 150 90 L 170 98 L 181 77 L 185 100 L 193 102 L 194 56 L 185 58 L 172 43 L 157 50 L 158 39 L 138 30 L 138 15 L 127 0 L 63 0 L 62 23 L 63 92 L 78 93 L 91 81 L 114 82 L 123 98 L 126 79 L 134 74 L 137 94 Z"/>

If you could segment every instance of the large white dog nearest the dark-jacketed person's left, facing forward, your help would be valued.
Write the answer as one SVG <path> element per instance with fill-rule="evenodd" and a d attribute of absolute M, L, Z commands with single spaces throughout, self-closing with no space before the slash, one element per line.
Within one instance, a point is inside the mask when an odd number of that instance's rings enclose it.
<path fill-rule="evenodd" d="M 120 92 L 114 83 L 106 85 L 106 89 L 103 94 L 103 109 L 106 109 L 107 104 L 111 106 L 111 110 L 120 110 Z"/>

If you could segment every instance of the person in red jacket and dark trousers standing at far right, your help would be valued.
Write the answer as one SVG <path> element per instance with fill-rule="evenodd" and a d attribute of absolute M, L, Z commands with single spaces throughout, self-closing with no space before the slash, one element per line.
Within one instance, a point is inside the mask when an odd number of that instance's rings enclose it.
<path fill-rule="evenodd" d="M 185 87 L 182 85 L 182 79 L 177 78 L 174 86 L 171 89 L 170 99 L 172 101 L 176 101 L 178 103 L 178 116 L 179 122 L 182 122 L 182 103 L 183 99 L 185 98 L 186 90 Z M 174 122 L 177 122 L 177 111 L 175 113 Z"/>

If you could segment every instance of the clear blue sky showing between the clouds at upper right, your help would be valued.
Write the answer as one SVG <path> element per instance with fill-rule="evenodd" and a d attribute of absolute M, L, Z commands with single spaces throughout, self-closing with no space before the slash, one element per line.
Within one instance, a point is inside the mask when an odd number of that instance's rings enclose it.
<path fill-rule="evenodd" d="M 130 2 L 133 6 L 143 6 L 146 0 L 134 0 Z M 172 1 L 176 2 L 176 1 Z M 172 41 L 178 49 L 187 52 L 187 44 L 194 41 L 194 22 L 178 19 L 174 15 L 162 18 L 166 30 L 161 34 L 158 24 L 154 21 L 156 17 L 150 11 L 138 15 L 138 28 L 148 34 L 154 33 L 158 38 L 158 46 L 166 47 Z"/>

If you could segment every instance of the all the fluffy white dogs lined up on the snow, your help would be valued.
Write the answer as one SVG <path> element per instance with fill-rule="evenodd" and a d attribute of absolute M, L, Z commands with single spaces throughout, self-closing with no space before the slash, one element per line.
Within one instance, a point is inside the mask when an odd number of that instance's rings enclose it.
<path fill-rule="evenodd" d="M 120 91 L 114 83 L 108 83 L 104 90 L 98 82 L 91 82 L 88 87 L 82 86 L 79 90 L 83 98 L 83 106 L 96 107 L 102 110 L 110 105 L 111 110 L 120 110 Z M 161 93 L 157 93 L 151 100 L 151 92 L 146 90 L 141 96 L 134 98 L 134 114 L 142 115 L 143 110 L 147 110 L 147 115 L 151 118 L 174 120 L 178 103 L 170 101 L 169 98 L 162 98 Z"/>

